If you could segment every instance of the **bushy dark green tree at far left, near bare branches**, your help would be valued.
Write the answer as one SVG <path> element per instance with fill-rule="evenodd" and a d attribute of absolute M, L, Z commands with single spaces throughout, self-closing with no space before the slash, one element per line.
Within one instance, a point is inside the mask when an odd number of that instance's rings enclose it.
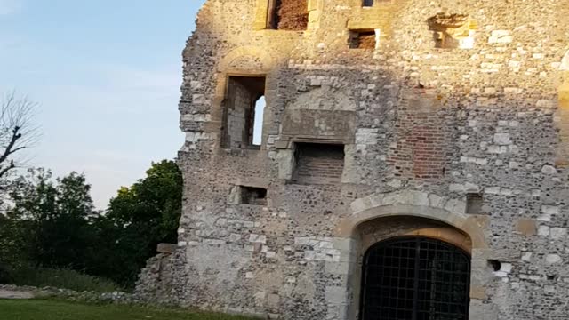
<path fill-rule="evenodd" d="M 28 262 L 50 268 L 89 268 L 94 239 L 90 220 L 97 216 L 90 190 L 84 175 L 76 172 L 53 181 L 51 172 L 31 170 L 26 179 L 17 181 L 10 193 L 13 208 L 7 220 L 14 226 L 12 233 L 25 226 L 27 236 L 19 245 L 27 252 Z"/>

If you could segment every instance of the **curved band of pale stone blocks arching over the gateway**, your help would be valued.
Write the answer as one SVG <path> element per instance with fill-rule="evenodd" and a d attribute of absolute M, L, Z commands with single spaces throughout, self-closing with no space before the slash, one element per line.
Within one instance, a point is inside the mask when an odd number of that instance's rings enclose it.
<path fill-rule="evenodd" d="M 469 236 L 472 249 L 487 247 L 480 217 L 467 215 L 466 202 L 421 191 L 399 191 L 365 196 L 351 204 L 351 215 L 340 221 L 336 233 L 353 237 L 363 223 L 387 217 L 410 216 L 443 222 Z"/>

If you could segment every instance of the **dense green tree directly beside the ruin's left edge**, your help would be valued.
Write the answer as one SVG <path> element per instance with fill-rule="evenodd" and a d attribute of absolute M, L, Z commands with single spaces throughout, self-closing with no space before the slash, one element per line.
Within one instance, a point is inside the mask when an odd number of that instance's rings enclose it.
<path fill-rule="evenodd" d="M 104 216 L 96 221 L 100 250 L 106 259 L 97 263 L 100 276 L 132 286 L 156 254 L 156 245 L 178 241 L 182 176 L 178 165 L 153 163 L 144 179 L 120 188 Z M 104 247 L 104 248 L 102 248 Z M 112 269 L 111 269 L 112 268 Z"/>

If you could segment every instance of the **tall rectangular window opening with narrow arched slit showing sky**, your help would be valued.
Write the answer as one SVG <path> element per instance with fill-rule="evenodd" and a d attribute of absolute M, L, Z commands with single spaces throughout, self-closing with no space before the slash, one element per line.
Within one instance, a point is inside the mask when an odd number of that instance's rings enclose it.
<path fill-rule="evenodd" d="M 260 148 L 266 108 L 264 76 L 229 76 L 224 101 L 223 148 Z"/>

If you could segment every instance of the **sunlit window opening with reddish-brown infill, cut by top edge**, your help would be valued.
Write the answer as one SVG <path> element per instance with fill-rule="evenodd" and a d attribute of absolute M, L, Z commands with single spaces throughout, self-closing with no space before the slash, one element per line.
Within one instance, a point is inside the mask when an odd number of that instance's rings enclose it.
<path fill-rule="evenodd" d="M 268 0 L 267 28 L 304 31 L 308 26 L 308 0 Z"/>

